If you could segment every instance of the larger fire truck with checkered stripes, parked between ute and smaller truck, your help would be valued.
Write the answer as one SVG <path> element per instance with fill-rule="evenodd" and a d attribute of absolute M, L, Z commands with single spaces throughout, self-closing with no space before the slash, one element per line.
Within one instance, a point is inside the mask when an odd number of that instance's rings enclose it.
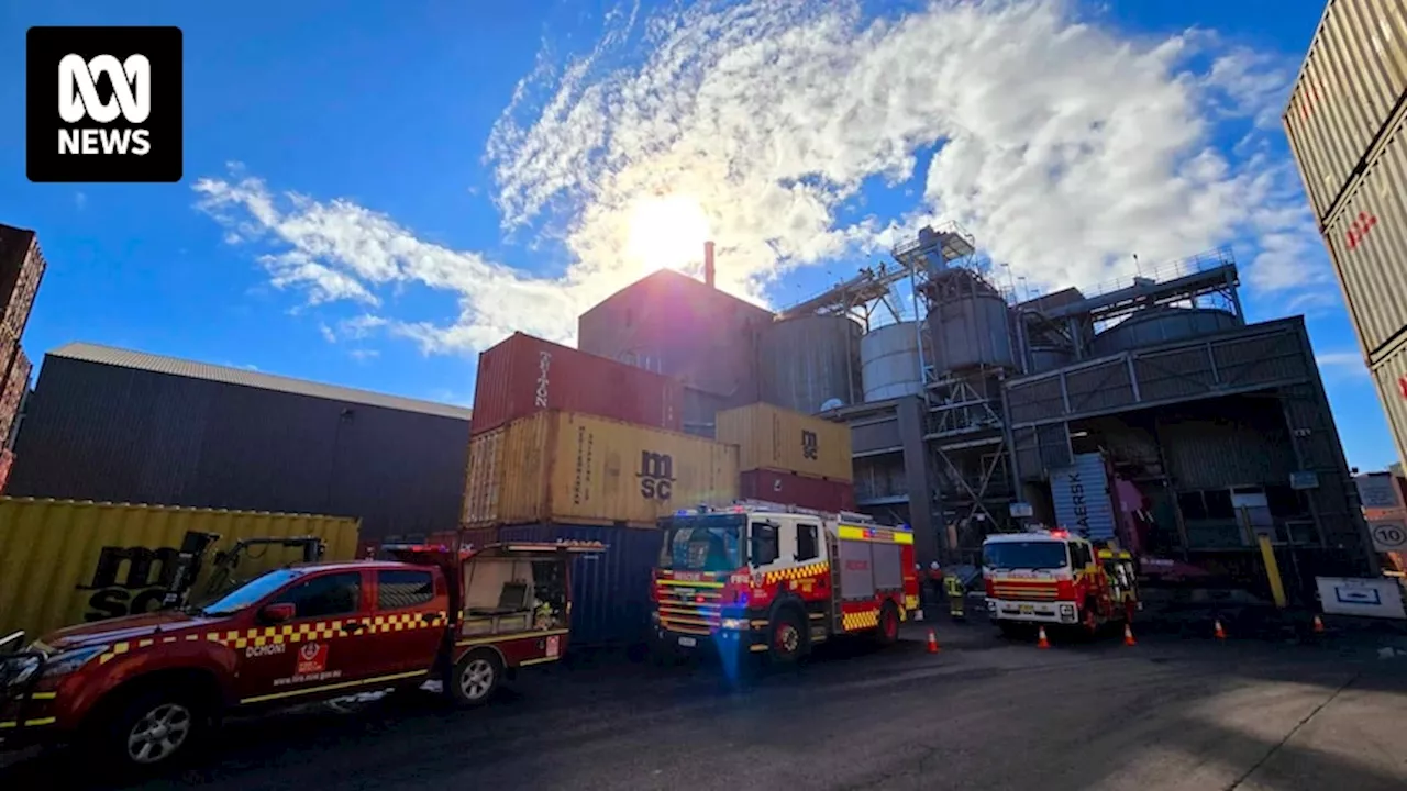
<path fill-rule="evenodd" d="M 796 662 L 836 635 L 899 638 L 919 608 L 913 532 L 864 514 L 744 501 L 660 521 L 656 649 Z"/>

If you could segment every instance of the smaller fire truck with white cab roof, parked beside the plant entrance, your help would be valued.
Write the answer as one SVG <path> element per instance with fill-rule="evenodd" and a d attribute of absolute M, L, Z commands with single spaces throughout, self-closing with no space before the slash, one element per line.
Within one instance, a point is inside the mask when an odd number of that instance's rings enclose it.
<path fill-rule="evenodd" d="M 982 543 L 988 616 L 1003 632 L 1019 625 L 1131 622 L 1140 609 L 1133 556 L 1067 531 L 988 536 Z"/>

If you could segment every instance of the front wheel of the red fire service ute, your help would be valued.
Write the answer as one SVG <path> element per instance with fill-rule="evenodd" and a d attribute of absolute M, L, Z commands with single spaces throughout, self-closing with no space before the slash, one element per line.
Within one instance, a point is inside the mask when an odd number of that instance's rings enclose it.
<path fill-rule="evenodd" d="M 210 725 L 198 695 L 176 685 L 145 690 L 113 709 L 96 736 L 127 773 L 165 768 L 198 745 Z"/>

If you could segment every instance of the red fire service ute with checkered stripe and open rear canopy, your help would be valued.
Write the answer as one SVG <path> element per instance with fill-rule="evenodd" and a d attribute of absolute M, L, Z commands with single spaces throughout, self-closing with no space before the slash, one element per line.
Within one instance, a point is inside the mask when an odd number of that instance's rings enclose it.
<path fill-rule="evenodd" d="M 201 607 L 70 626 L 0 656 L 0 739 L 75 740 L 145 768 L 231 711 L 428 678 L 478 705 L 505 676 L 563 656 L 570 560 L 605 548 L 387 549 L 397 562 L 290 566 Z"/>

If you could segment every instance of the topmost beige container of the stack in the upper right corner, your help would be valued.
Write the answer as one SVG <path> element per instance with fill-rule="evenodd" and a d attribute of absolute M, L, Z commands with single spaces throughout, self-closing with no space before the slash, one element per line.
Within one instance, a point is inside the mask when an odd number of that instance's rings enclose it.
<path fill-rule="evenodd" d="M 1318 220 L 1354 177 L 1407 90 L 1401 0 L 1331 0 L 1285 111 Z"/>

